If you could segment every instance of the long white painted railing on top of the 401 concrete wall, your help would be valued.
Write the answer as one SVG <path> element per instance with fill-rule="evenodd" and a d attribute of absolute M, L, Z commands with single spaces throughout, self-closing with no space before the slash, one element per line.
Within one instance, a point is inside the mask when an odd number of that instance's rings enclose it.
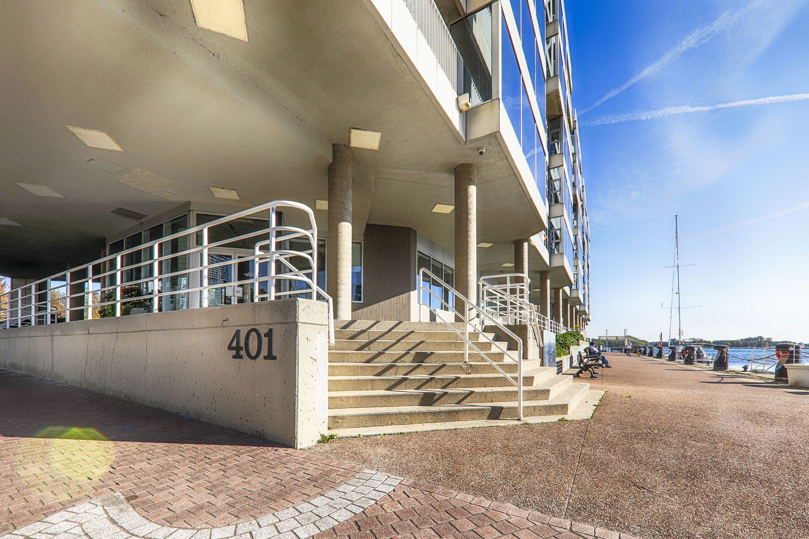
<path fill-rule="evenodd" d="M 279 224 L 279 208 L 302 211 L 308 228 Z M 239 233 L 233 226 L 239 219 L 250 219 L 253 228 Z M 265 227 L 256 226 L 262 221 Z M 228 227 L 224 234 L 217 229 L 223 225 Z M 221 239 L 212 241 L 211 231 Z M 303 248 L 288 248 L 290 240 Z M 252 245 L 252 255 L 221 261 L 210 256 L 214 249 L 235 252 L 236 242 Z M 244 263 L 252 272 L 242 278 L 234 268 Z M 133 309 L 205 308 L 222 304 L 226 296 L 231 302 L 239 297 L 254 302 L 308 297 L 328 303 L 333 343 L 332 298 L 317 286 L 317 274 L 317 225 L 311 209 L 298 202 L 267 202 L 15 288 L 5 301 L 0 298 L 0 328 L 122 316 Z M 236 293 L 244 286 L 248 295 Z"/>

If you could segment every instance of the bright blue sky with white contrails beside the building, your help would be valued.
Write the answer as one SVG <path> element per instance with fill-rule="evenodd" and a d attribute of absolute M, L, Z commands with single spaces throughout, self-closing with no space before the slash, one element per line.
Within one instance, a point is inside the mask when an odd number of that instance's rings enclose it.
<path fill-rule="evenodd" d="M 684 337 L 809 342 L 809 0 L 567 0 L 566 13 L 588 333 L 668 337 L 678 214 L 693 264 L 681 302 L 696 306 Z"/>

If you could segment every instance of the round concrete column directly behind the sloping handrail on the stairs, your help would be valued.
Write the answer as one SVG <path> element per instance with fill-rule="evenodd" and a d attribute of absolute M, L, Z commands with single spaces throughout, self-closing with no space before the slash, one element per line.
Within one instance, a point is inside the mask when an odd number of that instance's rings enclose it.
<path fill-rule="evenodd" d="M 455 167 L 455 289 L 477 303 L 477 167 Z"/>

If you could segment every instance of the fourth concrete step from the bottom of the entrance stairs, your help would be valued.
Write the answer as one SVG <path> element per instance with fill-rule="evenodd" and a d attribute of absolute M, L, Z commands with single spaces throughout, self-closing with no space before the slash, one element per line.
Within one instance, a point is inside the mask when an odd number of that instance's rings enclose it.
<path fill-rule="evenodd" d="M 539 371 L 548 376 L 556 374 L 555 367 L 542 367 L 540 360 L 523 363 L 523 374 L 537 376 Z M 508 374 L 517 372 L 517 363 L 498 363 Z M 328 363 L 328 376 L 460 376 L 477 374 L 499 374 L 488 361 L 469 363 Z M 537 379 L 538 381 L 539 379 Z"/>

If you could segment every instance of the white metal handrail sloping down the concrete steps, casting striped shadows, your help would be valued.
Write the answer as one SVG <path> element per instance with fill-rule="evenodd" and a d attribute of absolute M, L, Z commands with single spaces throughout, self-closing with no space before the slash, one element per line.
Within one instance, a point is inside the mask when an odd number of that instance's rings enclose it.
<path fill-rule="evenodd" d="M 431 283 L 436 283 L 442 286 L 443 289 L 450 291 L 455 298 L 455 302 L 460 299 L 464 302 L 464 312 L 461 313 L 455 308 L 455 305 L 451 305 L 447 302 L 446 299 L 443 298 L 443 295 L 438 295 L 430 286 L 424 286 L 425 277 L 428 277 Z M 444 320 L 443 315 L 438 312 L 438 309 L 433 308 L 430 305 L 431 302 L 424 303 L 421 301 L 421 291 L 427 291 L 428 294 L 432 295 L 435 298 L 438 298 L 438 301 L 447 308 L 448 312 L 451 312 L 455 315 L 455 318 L 460 318 L 463 320 L 464 323 L 464 333 L 461 333 L 451 322 Z M 472 346 L 475 350 L 477 350 L 478 354 L 481 354 L 481 357 L 492 364 L 492 366 L 497 369 L 502 376 L 506 376 L 506 379 L 510 381 L 511 384 L 517 387 L 517 413 L 518 419 L 523 419 L 523 339 L 518 337 L 513 331 L 506 328 L 505 325 L 502 325 L 498 320 L 495 320 L 492 316 L 489 316 L 489 313 L 485 312 L 482 308 L 480 308 L 477 303 L 472 302 L 466 296 L 461 294 L 459 291 L 456 291 L 452 286 L 449 286 L 446 282 L 443 282 L 441 278 L 438 278 L 434 274 L 430 273 L 430 270 L 426 268 L 421 268 L 418 272 L 418 302 L 420 305 L 424 305 L 426 308 L 430 310 L 434 314 L 434 316 L 438 319 L 447 324 L 447 326 L 457 333 L 461 338 L 464 339 L 464 363 L 469 363 L 469 346 Z M 477 316 L 470 316 L 471 312 L 477 313 Z M 503 371 L 502 368 L 498 366 L 492 359 L 489 359 L 489 356 L 486 353 L 478 348 L 474 341 L 469 339 L 469 327 L 477 329 L 477 326 L 474 325 L 474 320 L 477 319 L 485 319 L 491 322 L 493 325 L 496 325 L 503 333 L 506 333 L 509 337 L 514 339 L 517 345 L 517 355 L 516 357 L 510 354 L 510 350 L 508 348 L 503 348 L 500 345 L 500 342 L 495 341 L 492 337 L 489 337 L 486 333 L 481 331 L 481 336 L 487 339 L 489 342 L 493 344 L 498 350 L 502 351 L 505 354 L 505 357 L 510 359 L 511 361 L 517 363 L 517 379 L 515 380 L 512 376 L 510 376 L 506 371 Z"/>

